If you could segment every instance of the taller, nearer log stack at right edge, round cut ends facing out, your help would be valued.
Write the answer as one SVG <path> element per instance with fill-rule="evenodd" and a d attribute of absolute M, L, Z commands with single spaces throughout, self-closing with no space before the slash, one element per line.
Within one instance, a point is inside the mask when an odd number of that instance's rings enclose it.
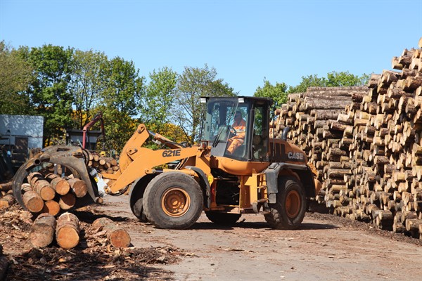
<path fill-rule="evenodd" d="M 346 216 L 414 237 L 422 237 L 422 39 L 419 47 L 393 58 L 395 71 L 373 74 L 359 107 L 347 108 L 352 176 L 348 201 L 335 203 Z"/>

